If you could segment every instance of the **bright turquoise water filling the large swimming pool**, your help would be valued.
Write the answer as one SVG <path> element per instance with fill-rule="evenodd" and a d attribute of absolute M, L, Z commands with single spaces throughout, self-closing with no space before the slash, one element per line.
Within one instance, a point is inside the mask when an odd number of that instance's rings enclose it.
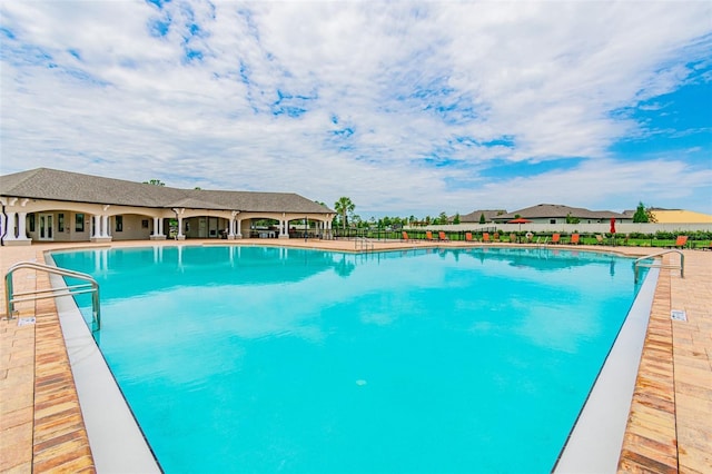
<path fill-rule="evenodd" d="M 52 257 L 167 473 L 550 472 L 637 289 L 547 249 Z"/>

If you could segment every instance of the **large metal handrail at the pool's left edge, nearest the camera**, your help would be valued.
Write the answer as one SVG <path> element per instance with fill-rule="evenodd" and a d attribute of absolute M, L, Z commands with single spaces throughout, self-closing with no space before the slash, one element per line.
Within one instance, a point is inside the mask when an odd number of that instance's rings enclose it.
<path fill-rule="evenodd" d="M 85 280 L 87 283 L 79 285 L 65 286 L 62 288 L 49 288 L 49 289 L 34 289 L 29 292 L 14 293 L 12 286 L 12 274 L 14 270 L 22 268 L 47 271 L 49 274 L 67 276 Z M 4 274 L 4 296 L 6 296 L 6 309 L 8 312 L 8 319 L 13 318 L 14 304 L 20 302 L 32 302 L 36 299 L 56 298 L 58 296 L 71 296 L 83 293 L 91 293 L 91 318 L 92 330 L 99 330 L 101 328 L 101 306 L 99 304 L 99 284 L 91 275 L 82 274 L 80 271 L 68 270 L 65 268 L 51 267 L 49 265 L 37 264 L 34 261 L 20 261 L 11 266 Z"/>

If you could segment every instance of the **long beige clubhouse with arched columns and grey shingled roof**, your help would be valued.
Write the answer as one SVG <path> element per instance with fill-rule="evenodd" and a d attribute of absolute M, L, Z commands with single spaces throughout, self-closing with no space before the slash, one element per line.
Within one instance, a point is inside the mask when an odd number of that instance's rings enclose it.
<path fill-rule="evenodd" d="M 178 189 L 48 168 L 1 176 L 0 203 L 2 245 L 328 237 L 335 216 L 296 194 Z"/>

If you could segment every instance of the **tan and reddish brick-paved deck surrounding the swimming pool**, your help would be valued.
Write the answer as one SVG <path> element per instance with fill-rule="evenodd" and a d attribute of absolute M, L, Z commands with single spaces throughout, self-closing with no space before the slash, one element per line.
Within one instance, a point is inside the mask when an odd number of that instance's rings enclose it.
<path fill-rule="evenodd" d="M 289 245 L 354 251 L 353 240 L 187 240 L 182 245 Z M 174 246 L 175 241 L 111 246 Z M 473 245 L 473 244 L 469 244 Z M 492 244 L 490 244 L 492 245 Z M 374 248 L 463 246 L 457 243 L 374 241 Z M 2 275 L 17 261 L 43 263 L 52 249 L 107 245 L 34 244 L 0 247 Z M 565 248 L 562 246 L 562 248 Z M 576 247 L 625 255 L 644 248 Z M 627 419 L 620 472 L 712 472 L 712 253 L 684 250 L 685 278 L 661 269 Z M 678 257 L 669 254 L 665 261 Z M 47 287 L 43 273 L 19 270 L 17 292 Z M 0 283 L 3 295 L 4 278 Z M 0 320 L 0 472 L 95 472 L 67 348 L 52 299 L 17 305 L 19 319 Z M 684 310 L 686 322 L 672 320 Z M 36 324 L 19 322 L 36 318 Z"/>

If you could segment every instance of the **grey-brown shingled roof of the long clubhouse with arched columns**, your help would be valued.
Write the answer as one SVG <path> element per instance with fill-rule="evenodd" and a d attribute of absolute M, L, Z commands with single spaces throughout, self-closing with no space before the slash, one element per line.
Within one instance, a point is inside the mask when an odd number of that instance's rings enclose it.
<path fill-rule="evenodd" d="M 136 207 L 334 213 L 326 206 L 293 192 L 179 189 L 49 168 L 0 176 L 0 195 Z"/>

